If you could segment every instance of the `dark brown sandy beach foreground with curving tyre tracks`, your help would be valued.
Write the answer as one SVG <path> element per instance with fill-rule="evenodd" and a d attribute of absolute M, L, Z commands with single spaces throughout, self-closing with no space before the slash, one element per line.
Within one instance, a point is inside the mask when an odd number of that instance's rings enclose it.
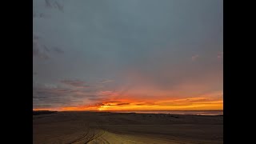
<path fill-rule="evenodd" d="M 58 112 L 33 116 L 38 143 L 223 143 L 223 116 Z"/>

